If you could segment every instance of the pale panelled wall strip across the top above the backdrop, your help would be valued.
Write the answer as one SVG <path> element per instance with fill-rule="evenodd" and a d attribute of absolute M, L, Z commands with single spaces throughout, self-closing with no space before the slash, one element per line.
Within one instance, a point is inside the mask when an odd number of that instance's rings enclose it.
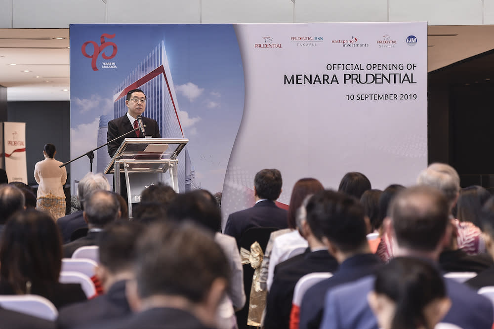
<path fill-rule="evenodd" d="M 71 23 L 494 24 L 494 0 L 0 0 L 0 28 Z"/>

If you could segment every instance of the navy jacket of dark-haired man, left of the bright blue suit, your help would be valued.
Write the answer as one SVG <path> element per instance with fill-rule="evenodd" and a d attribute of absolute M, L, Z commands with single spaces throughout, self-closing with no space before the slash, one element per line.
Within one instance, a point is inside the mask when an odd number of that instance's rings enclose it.
<path fill-rule="evenodd" d="M 335 286 L 371 275 L 381 264 L 381 259 L 371 253 L 359 254 L 345 259 L 332 277 L 315 284 L 305 292 L 300 305 L 299 328 L 319 329 L 327 291 Z"/>

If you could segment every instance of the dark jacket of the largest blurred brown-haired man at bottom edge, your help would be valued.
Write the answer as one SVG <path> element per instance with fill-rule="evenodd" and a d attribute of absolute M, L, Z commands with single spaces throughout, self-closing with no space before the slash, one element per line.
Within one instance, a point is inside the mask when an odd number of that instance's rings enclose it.
<path fill-rule="evenodd" d="M 173 308 L 152 308 L 120 320 L 93 323 L 78 329 L 210 329 L 192 314 Z"/>

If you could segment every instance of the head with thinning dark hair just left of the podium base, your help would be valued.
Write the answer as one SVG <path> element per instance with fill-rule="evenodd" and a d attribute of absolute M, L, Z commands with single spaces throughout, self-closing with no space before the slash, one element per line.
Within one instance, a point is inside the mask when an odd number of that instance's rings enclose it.
<path fill-rule="evenodd" d="M 86 199 L 84 217 L 91 227 L 102 228 L 120 217 L 120 203 L 111 192 L 94 191 Z"/>

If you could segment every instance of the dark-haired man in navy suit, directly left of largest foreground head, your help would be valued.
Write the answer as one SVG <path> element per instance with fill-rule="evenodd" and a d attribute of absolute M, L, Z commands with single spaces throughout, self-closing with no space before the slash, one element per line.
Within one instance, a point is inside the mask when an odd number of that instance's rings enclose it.
<path fill-rule="evenodd" d="M 135 246 L 144 226 L 137 222 L 115 222 L 98 237 L 99 263 L 96 276 L 106 293 L 60 310 L 58 329 L 130 315 L 125 283 L 134 278 Z"/>

